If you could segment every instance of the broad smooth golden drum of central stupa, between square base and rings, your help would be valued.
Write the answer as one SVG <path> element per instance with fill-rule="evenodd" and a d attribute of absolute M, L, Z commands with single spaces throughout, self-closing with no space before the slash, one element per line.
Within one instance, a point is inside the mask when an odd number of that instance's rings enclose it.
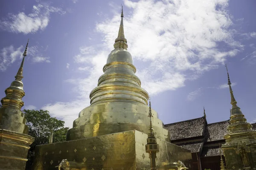
<path fill-rule="evenodd" d="M 170 141 L 169 131 L 163 128 L 157 112 L 152 109 L 152 126 L 158 139 Z M 148 106 L 135 102 L 102 102 L 88 106 L 79 113 L 67 141 L 112 133 L 138 130 L 148 133 Z"/>

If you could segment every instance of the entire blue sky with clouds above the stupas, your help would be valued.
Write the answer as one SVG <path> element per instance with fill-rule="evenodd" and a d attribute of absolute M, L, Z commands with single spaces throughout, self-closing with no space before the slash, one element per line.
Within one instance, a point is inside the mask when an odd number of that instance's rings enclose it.
<path fill-rule="evenodd" d="M 164 124 L 201 117 L 203 107 L 208 123 L 229 119 L 225 63 L 238 106 L 256 122 L 254 0 L 2 0 L 0 97 L 29 38 L 23 108 L 72 127 L 113 50 L 121 3 L 136 74 Z"/>

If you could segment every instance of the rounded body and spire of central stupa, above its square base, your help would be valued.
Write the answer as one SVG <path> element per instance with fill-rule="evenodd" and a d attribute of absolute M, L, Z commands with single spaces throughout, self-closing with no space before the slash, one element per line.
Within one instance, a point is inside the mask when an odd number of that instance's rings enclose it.
<path fill-rule="evenodd" d="M 79 113 L 67 133 L 67 140 L 129 130 L 148 133 L 148 93 L 135 76 L 136 68 L 126 43 L 122 12 L 115 49 L 108 55 L 98 86 L 90 93 L 91 105 Z M 157 112 L 152 111 L 152 115 L 156 137 L 169 142 L 169 132 L 163 128 Z"/>

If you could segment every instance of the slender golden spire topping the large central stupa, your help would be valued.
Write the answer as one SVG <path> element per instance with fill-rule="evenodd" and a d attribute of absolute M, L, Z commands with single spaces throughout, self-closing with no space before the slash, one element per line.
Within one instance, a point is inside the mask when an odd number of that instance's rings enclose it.
<path fill-rule="evenodd" d="M 120 49 L 127 50 L 127 48 L 128 48 L 127 40 L 125 39 L 123 17 L 124 17 L 124 13 L 123 13 L 123 6 L 122 6 L 121 22 L 120 22 L 120 26 L 119 26 L 118 36 L 114 43 L 114 48 L 115 48 L 114 50 L 120 50 Z"/>

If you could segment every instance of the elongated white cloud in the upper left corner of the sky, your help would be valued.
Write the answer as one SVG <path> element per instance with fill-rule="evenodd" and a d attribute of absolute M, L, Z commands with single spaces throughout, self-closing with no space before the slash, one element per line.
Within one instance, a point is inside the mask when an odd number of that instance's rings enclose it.
<path fill-rule="evenodd" d="M 0 27 L 15 33 L 35 33 L 47 27 L 51 13 L 65 14 L 61 8 L 38 4 L 33 6 L 30 14 L 25 14 L 24 12 L 9 14 L 7 18 L 0 20 Z"/>

